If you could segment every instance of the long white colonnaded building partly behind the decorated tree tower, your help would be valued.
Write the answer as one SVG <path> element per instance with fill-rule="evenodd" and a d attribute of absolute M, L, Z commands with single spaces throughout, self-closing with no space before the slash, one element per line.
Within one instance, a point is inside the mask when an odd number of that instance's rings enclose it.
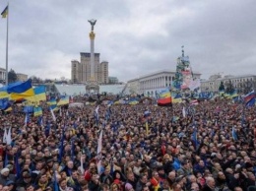
<path fill-rule="evenodd" d="M 200 79 L 200 73 L 193 73 L 194 79 Z M 175 71 L 161 70 L 147 74 L 127 82 L 130 94 L 144 94 L 145 96 L 156 96 L 162 89 L 171 89 Z"/>

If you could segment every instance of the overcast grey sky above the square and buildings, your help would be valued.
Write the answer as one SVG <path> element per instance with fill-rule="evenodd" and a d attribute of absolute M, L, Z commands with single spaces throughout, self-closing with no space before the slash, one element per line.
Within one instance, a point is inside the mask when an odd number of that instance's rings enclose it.
<path fill-rule="evenodd" d="M 90 52 L 90 19 L 100 61 L 120 81 L 175 70 L 182 45 L 203 78 L 256 74 L 255 0 L 10 0 L 9 68 L 70 79 L 71 60 Z M 5 44 L 1 19 L 1 68 Z"/>

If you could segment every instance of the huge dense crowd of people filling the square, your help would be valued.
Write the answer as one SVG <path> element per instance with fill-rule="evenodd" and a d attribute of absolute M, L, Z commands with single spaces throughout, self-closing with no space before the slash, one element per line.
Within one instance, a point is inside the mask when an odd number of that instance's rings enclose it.
<path fill-rule="evenodd" d="M 28 123 L 3 112 L 0 190 L 256 190 L 255 111 L 216 99 L 62 107 L 55 121 L 44 108 Z"/>

